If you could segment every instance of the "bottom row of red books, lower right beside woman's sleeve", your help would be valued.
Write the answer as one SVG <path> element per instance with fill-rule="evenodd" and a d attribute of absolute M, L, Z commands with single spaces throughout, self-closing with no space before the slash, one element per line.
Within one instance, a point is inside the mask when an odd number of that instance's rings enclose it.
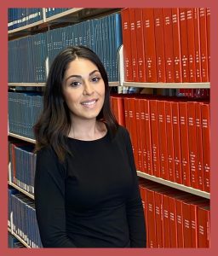
<path fill-rule="evenodd" d="M 209 247 L 209 200 L 140 183 L 147 247 Z"/>

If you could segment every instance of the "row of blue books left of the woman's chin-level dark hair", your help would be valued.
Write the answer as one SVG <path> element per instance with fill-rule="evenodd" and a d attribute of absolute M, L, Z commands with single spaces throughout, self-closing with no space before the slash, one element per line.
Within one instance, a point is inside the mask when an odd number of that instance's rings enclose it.
<path fill-rule="evenodd" d="M 39 92 L 9 92 L 9 132 L 34 139 L 32 126 L 43 110 Z"/>

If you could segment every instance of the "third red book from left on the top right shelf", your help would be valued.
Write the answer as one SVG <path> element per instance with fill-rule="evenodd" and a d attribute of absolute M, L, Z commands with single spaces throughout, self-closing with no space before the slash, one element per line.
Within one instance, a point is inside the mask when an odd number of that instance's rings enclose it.
<path fill-rule="evenodd" d="M 144 47 L 144 32 L 143 32 L 143 16 L 142 9 L 135 9 L 136 20 L 136 44 L 137 44 L 137 57 L 138 57 L 138 70 L 139 70 L 139 82 L 146 82 L 146 57 Z"/>

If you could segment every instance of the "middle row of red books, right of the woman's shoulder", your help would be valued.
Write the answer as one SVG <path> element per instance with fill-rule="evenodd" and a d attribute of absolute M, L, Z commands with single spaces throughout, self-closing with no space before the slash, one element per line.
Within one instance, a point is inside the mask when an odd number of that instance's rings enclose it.
<path fill-rule="evenodd" d="M 210 189 L 209 102 L 155 96 L 112 96 L 129 130 L 137 170 L 194 189 Z"/>

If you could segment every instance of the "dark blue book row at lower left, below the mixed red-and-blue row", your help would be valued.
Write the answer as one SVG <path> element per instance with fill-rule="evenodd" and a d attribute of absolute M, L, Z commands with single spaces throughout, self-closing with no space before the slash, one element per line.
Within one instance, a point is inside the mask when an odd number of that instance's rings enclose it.
<path fill-rule="evenodd" d="M 29 247 L 43 247 L 37 226 L 35 204 L 26 195 L 9 191 L 9 222 L 12 233 L 19 236 Z"/>

